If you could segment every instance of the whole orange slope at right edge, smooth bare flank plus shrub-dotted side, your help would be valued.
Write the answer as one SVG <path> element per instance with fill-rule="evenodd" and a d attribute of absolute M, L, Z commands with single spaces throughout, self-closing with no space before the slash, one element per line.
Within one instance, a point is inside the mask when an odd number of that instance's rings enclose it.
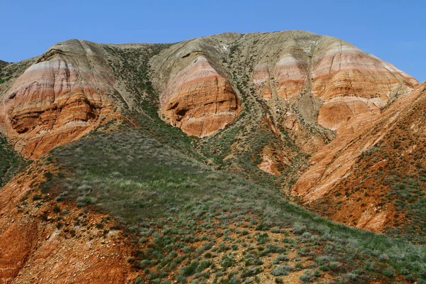
<path fill-rule="evenodd" d="M 322 151 L 315 155 L 318 160 L 312 158 L 315 164 L 300 177 L 295 192 L 312 208 L 339 222 L 424 235 L 424 221 L 419 217 L 426 180 L 420 134 L 425 125 L 425 92 L 425 83 L 420 84 L 365 121 L 353 135 L 346 131 L 340 141 L 338 136 L 327 146 L 327 154 Z M 317 183 L 307 186 L 309 180 Z M 337 206 L 324 210 L 325 202 Z"/>

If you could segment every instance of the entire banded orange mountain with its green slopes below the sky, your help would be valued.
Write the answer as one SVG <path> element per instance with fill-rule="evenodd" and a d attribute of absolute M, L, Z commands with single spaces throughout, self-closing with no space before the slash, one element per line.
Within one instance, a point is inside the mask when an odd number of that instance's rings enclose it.
<path fill-rule="evenodd" d="M 6 283 L 426 280 L 425 84 L 354 45 L 67 40 L 0 74 Z"/>

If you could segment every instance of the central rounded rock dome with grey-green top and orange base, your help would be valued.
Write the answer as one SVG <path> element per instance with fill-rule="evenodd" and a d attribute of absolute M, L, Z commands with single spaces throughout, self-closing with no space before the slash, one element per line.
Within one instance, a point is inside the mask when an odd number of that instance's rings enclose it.
<path fill-rule="evenodd" d="M 241 111 L 229 74 L 221 63 L 224 34 L 177 43 L 153 58 L 153 82 L 160 93 L 160 115 L 188 135 L 204 137 L 223 129 Z"/>

